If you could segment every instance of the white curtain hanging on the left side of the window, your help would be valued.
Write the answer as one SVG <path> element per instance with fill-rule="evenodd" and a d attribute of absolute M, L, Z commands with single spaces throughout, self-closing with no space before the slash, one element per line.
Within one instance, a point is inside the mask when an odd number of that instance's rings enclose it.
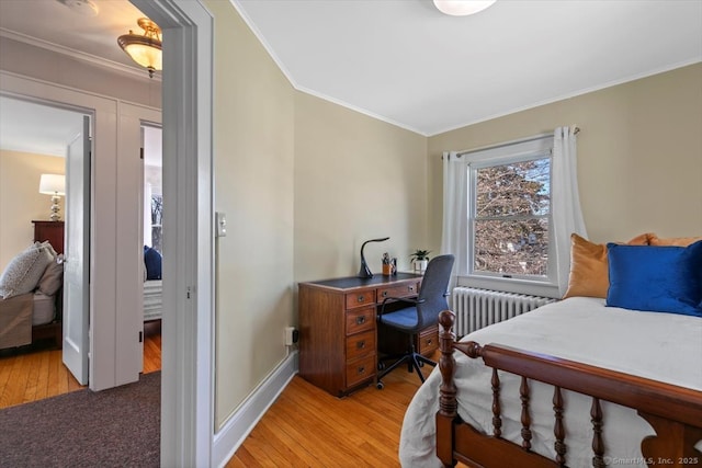
<path fill-rule="evenodd" d="M 455 263 L 451 288 L 456 275 L 467 273 L 468 243 L 468 171 L 456 151 L 443 153 L 443 229 L 441 253 L 453 253 Z"/>

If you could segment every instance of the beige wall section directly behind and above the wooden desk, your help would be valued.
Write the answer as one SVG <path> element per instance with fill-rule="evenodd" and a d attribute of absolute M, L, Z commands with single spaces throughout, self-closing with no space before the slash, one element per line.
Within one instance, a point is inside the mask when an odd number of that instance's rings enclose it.
<path fill-rule="evenodd" d="M 298 92 L 295 100 L 295 281 L 409 270 L 427 241 L 427 138 Z"/>

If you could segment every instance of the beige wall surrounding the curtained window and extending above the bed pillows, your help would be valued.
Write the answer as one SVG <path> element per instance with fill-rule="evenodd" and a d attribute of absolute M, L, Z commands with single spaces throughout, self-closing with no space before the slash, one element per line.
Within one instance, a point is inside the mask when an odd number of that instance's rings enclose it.
<path fill-rule="evenodd" d="M 442 150 L 577 124 L 588 237 L 702 235 L 702 65 L 611 87 L 429 138 L 431 243 L 441 243 Z"/>

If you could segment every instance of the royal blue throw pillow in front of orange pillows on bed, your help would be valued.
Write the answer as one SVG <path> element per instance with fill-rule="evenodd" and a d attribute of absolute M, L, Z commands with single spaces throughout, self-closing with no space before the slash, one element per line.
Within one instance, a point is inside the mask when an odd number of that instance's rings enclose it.
<path fill-rule="evenodd" d="M 608 306 L 702 317 L 702 241 L 607 248 Z"/>

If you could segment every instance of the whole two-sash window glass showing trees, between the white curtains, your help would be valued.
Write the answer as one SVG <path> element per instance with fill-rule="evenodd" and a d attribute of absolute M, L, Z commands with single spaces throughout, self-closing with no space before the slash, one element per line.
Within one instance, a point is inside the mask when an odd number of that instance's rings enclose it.
<path fill-rule="evenodd" d="M 551 151 L 468 164 L 469 273 L 547 281 Z"/>

